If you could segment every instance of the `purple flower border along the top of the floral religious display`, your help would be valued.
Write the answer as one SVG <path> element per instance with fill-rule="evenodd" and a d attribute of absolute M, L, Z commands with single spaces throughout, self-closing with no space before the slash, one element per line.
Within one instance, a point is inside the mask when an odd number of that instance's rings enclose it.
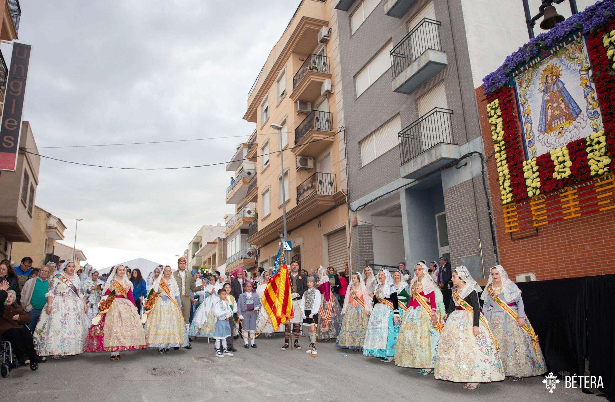
<path fill-rule="evenodd" d="M 539 54 L 540 48 L 549 48 L 563 41 L 570 34 L 580 31 L 587 34 L 596 28 L 602 28 L 615 16 L 615 0 L 603 0 L 585 8 L 583 12 L 566 18 L 550 31 L 539 34 L 526 44 L 508 55 L 501 66 L 483 78 L 485 94 L 504 86 L 509 82 L 509 73 L 519 68 Z"/>

